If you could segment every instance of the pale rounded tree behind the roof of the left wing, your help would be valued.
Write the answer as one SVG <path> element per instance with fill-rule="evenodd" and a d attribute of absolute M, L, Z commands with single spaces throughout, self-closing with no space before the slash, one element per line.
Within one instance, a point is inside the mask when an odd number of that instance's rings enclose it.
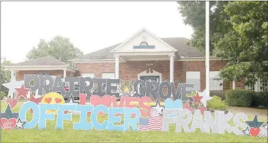
<path fill-rule="evenodd" d="M 67 37 L 56 36 L 49 42 L 41 39 L 37 47 L 33 47 L 27 54 L 29 60 L 52 56 L 65 63 L 69 60 L 82 56 L 83 53 L 70 42 Z"/>

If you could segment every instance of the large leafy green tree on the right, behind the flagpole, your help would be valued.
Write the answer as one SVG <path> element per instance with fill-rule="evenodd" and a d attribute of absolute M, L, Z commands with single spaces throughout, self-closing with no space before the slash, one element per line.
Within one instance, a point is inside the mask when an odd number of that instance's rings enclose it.
<path fill-rule="evenodd" d="M 184 23 L 194 28 L 189 44 L 205 51 L 205 1 L 180 1 Z M 267 1 L 211 1 L 210 51 L 228 59 L 221 76 L 229 81 L 267 80 Z"/>

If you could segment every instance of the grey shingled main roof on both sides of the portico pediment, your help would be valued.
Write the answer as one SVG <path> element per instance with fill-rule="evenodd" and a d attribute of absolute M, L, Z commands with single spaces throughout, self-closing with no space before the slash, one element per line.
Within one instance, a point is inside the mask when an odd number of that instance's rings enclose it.
<path fill-rule="evenodd" d="M 189 45 L 186 44 L 186 41 L 188 40 L 185 37 L 166 37 L 166 38 L 160 38 L 167 44 L 171 45 L 174 49 L 177 49 L 178 51 L 175 51 L 175 54 L 178 57 L 184 57 L 184 58 L 190 58 L 190 57 L 204 57 L 205 54 L 201 53 L 198 49 L 195 49 L 193 47 L 189 47 Z M 110 60 L 114 59 L 113 53 L 111 52 L 113 49 L 118 47 L 120 44 L 115 44 L 111 47 L 107 47 L 105 49 L 100 49 L 98 51 L 88 53 L 84 56 L 80 56 L 78 58 L 75 58 L 73 60 Z"/>

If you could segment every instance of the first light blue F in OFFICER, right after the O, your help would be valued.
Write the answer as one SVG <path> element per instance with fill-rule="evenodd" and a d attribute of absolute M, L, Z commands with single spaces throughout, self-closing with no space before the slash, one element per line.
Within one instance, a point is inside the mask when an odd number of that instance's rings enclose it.
<path fill-rule="evenodd" d="M 58 110 L 58 104 L 39 104 L 40 108 L 40 121 L 38 128 L 39 129 L 44 129 L 46 128 L 46 121 L 47 119 L 54 120 L 55 115 L 54 113 L 49 113 L 47 114 L 47 110 Z"/>

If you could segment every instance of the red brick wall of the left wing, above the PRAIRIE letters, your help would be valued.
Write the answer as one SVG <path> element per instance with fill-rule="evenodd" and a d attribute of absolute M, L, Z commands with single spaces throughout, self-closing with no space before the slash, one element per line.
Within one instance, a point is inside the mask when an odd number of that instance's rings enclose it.
<path fill-rule="evenodd" d="M 16 80 L 22 81 L 24 80 L 24 74 L 38 74 L 40 71 L 17 71 L 16 72 Z M 52 74 L 52 76 L 62 76 L 63 77 L 63 70 L 49 70 L 49 71 L 42 71 L 45 74 Z M 73 77 L 75 73 L 73 72 L 66 72 L 66 76 Z"/>

